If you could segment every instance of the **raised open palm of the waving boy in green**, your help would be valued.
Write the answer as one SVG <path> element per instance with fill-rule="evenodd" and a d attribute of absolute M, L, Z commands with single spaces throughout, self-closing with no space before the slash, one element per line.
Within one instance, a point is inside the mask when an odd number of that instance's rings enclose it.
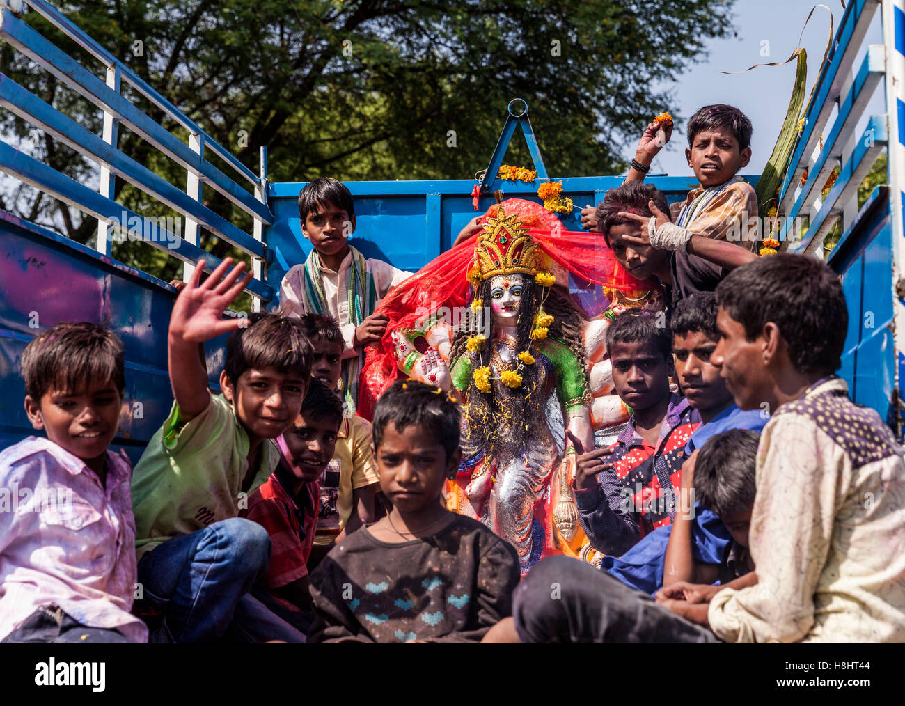
<path fill-rule="evenodd" d="M 243 326 L 242 319 L 223 319 L 224 310 L 252 281 L 249 273 L 236 283 L 245 268 L 244 262 L 239 262 L 224 277 L 232 262 L 233 258 L 227 257 L 203 283 L 199 282 L 205 261 L 201 259 L 195 263 L 191 281 L 182 288 L 173 304 L 169 325 L 171 336 L 188 343 L 201 343 Z"/>

